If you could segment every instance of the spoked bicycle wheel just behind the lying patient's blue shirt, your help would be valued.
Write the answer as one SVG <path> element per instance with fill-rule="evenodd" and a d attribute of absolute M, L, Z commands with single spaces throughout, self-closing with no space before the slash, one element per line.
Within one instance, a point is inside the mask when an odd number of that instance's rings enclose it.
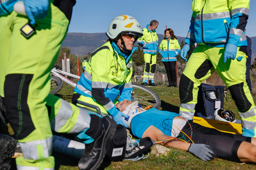
<path fill-rule="evenodd" d="M 159 109 L 161 106 L 160 97 L 150 88 L 132 83 L 133 91 L 131 98 L 133 101 L 139 101 L 139 104 L 145 108 L 152 105 L 152 108 Z"/>

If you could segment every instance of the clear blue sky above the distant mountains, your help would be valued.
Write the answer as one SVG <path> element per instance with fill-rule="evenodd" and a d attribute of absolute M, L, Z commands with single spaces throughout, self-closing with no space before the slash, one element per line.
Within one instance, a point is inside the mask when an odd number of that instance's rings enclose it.
<path fill-rule="evenodd" d="M 191 19 L 192 0 L 76 0 L 68 32 L 102 33 L 116 16 L 130 15 L 145 28 L 151 20 L 159 22 L 156 32 L 165 26 L 176 36 L 186 37 Z M 256 36 L 256 1 L 251 0 L 246 35 Z"/>

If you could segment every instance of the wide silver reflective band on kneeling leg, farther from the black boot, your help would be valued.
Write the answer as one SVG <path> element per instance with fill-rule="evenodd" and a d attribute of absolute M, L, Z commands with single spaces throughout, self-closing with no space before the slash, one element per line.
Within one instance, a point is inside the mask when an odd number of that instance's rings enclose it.
<path fill-rule="evenodd" d="M 69 102 L 61 100 L 61 107 L 59 112 L 50 122 L 52 130 L 58 132 L 62 126 L 64 126 L 66 122 L 71 118 L 72 114 L 73 110 Z"/>

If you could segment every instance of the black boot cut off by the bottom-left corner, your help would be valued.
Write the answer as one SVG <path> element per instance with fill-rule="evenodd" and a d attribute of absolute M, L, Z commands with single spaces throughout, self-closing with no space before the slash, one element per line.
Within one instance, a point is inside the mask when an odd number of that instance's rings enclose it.
<path fill-rule="evenodd" d="M 11 168 L 11 157 L 14 155 L 17 140 L 8 135 L 0 134 L 0 169 Z"/>

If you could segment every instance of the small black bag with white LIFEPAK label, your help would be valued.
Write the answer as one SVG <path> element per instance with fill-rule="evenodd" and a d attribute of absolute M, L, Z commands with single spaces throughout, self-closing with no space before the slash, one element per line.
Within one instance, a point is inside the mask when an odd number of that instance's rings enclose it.
<path fill-rule="evenodd" d="M 122 161 L 125 158 L 127 132 L 123 125 L 117 124 L 116 131 L 107 143 L 104 161 Z"/>

